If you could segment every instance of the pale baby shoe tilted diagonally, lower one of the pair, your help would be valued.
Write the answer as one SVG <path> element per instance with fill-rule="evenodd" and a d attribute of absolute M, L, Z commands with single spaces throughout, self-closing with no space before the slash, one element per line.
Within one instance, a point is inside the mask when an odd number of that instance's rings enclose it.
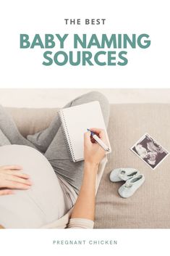
<path fill-rule="evenodd" d="M 119 195 L 123 198 L 131 197 L 132 194 L 139 189 L 139 187 L 145 181 L 145 177 L 143 174 L 139 174 L 133 178 L 127 180 L 122 186 L 119 187 Z"/>

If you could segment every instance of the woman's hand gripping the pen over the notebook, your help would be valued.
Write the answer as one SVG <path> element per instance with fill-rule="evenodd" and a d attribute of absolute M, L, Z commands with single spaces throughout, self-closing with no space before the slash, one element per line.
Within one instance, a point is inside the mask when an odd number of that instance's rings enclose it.
<path fill-rule="evenodd" d="M 105 131 L 98 128 L 90 128 L 90 131 L 98 133 L 99 138 L 107 144 Z M 98 165 L 106 154 L 105 150 L 98 144 L 92 143 L 90 138 L 90 131 L 84 136 L 84 159 L 85 163 L 90 165 Z"/>

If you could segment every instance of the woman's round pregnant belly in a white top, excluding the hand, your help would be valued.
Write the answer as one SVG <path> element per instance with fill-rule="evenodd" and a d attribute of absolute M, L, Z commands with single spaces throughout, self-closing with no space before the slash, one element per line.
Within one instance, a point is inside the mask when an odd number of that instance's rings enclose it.
<path fill-rule="evenodd" d="M 30 146 L 0 147 L 1 165 L 21 165 L 33 185 L 0 197 L 0 224 L 5 228 L 38 228 L 66 212 L 64 194 L 50 163 Z"/>

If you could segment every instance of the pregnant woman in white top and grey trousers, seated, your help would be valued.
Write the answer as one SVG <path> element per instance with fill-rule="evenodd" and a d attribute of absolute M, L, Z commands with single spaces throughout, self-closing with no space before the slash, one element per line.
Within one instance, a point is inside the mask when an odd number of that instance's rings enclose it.
<path fill-rule="evenodd" d="M 82 95 L 65 107 L 96 100 L 107 126 L 109 103 L 98 92 Z M 104 131 L 92 129 L 106 142 Z M 57 115 L 46 130 L 25 139 L 0 106 L 1 228 L 93 228 L 95 180 L 104 156 L 87 132 L 85 160 L 72 162 Z"/>

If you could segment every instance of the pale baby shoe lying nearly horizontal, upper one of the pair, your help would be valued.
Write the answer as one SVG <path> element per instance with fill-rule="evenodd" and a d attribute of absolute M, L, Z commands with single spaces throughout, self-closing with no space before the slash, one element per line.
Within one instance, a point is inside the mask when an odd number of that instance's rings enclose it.
<path fill-rule="evenodd" d="M 112 182 L 127 181 L 129 178 L 132 178 L 137 174 L 140 174 L 140 171 L 134 168 L 116 168 L 111 171 L 110 180 Z"/>

